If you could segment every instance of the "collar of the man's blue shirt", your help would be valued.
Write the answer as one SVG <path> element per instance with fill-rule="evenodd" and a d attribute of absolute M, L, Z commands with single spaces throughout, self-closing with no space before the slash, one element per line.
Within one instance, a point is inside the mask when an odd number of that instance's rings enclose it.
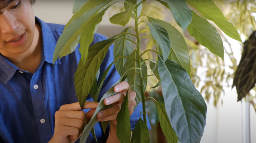
<path fill-rule="evenodd" d="M 53 31 L 48 24 L 44 23 L 39 18 L 35 17 L 35 21 L 37 24 L 40 24 L 42 29 L 43 45 L 41 58 L 43 58 L 44 61 L 53 64 L 53 53 L 57 42 L 53 36 Z M 60 63 L 60 59 L 58 58 L 54 64 Z M 17 70 L 22 71 L 0 54 L 0 82 L 7 84 L 7 82 L 13 77 Z"/>

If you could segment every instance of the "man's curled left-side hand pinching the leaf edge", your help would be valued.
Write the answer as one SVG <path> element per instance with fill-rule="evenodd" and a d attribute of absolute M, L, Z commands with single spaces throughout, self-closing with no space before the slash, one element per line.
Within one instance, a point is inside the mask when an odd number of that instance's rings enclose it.
<path fill-rule="evenodd" d="M 85 113 L 81 111 L 79 103 L 62 105 L 55 113 L 55 128 L 49 143 L 74 143 L 83 133 L 94 114 L 98 102 L 85 102 L 84 109 L 91 109 Z"/>

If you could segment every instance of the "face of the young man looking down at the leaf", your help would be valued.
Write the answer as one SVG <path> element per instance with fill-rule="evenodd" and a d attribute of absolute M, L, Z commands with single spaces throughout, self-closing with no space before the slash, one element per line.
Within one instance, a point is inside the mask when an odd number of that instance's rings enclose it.
<path fill-rule="evenodd" d="M 30 1 L 13 0 L 0 11 L 0 53 L 26 52 L 32 44 L 34 29 L 35 18 Z"/>

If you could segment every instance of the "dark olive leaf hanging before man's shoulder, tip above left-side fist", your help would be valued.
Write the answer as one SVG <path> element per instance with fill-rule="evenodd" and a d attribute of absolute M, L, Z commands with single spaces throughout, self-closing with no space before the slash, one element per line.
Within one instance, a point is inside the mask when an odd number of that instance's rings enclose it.
<path fill-rule="evenodd" d="M 75 91 L 78 102 L 83 109 L 84 102 L 90 92 L 93 82 L 96 78 L 96 73 L 115 39 L 99 41 L 89 48 L 89 56 L 86 63 L 79 61 L 75 72 Z"/>

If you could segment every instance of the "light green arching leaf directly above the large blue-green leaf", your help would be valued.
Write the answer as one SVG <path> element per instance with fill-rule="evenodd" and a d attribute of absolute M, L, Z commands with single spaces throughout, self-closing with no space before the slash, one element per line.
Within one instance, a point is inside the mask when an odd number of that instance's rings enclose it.
<path fill-rule="evenodd" d="M 168 58 L 170 60 L 177 61 L 183 68 L 186 69 L 189 76 L 191 77 L 189 51 L 183 35 L 174 26 L 165 21 L 154 19 L 151 17 L 148 17 L 148 19 L 153 23 L 159 24 L 166 29 L 171 44 L 171 51 Z"/>

